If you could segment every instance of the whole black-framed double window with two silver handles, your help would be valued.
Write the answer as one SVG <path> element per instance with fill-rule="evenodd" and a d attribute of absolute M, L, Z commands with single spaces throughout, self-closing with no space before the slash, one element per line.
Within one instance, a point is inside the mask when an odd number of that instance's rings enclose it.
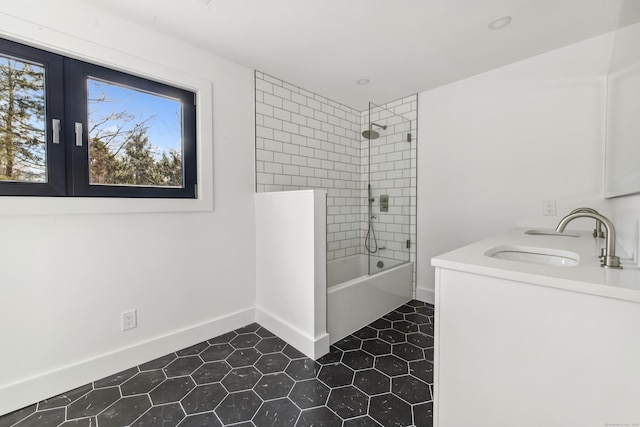
<path fill-rule="evenodd" d="M 0 40 L 0 195 L 196 198 L 193 92 Z"/>

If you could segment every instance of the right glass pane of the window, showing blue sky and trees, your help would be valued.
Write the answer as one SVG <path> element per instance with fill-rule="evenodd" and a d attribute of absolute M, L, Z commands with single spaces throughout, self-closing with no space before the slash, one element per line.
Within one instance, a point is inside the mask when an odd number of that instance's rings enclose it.
<path fill-rule="evenodd" d="M 182 103 L 87 79 L 91 185 L 183 187 Z"/>

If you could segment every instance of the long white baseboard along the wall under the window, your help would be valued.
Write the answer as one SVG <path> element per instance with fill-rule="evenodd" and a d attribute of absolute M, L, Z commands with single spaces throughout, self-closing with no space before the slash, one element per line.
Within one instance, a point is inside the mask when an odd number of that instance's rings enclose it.
<path fill-rule="evenodd" d="M 253 323 L 253 308 L 0 387 L 0 415 Z M 327 339 L 328 342 L 328 339 Z M 327 344 L 328 348 L 328 344 Z"/>

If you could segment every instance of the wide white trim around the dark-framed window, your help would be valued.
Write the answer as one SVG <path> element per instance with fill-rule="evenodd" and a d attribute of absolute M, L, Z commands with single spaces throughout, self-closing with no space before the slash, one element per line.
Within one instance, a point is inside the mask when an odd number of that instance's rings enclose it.
<path fill-rule="evenodd" d="M 210 80 L 50 28 L 44 31 L 35 23 L 7 15 L 0 14 L 0 28 L 0 36 L 8 40 L 194 92 L 198 168 L 197 199 L 2 196 L 0 216 L 213 210 L 213 84 Z M 34 34 L 38 37 L 34 38 Z"/>

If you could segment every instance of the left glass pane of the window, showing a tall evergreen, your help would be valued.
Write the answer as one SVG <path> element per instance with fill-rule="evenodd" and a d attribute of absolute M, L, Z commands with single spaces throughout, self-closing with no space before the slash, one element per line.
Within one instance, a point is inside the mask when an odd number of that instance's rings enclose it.
<path fill-rule="evenodd" d="M 44 70 L 0 55 L 0 181 L 47 182 Z"/>

